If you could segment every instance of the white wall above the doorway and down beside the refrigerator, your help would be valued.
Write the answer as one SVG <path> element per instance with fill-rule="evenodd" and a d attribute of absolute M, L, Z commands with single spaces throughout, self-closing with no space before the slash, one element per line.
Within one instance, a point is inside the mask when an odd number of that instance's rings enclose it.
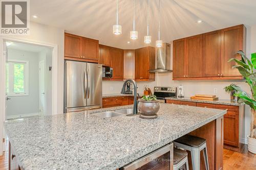
<path fill-rule="evenodd" d="M 25 38 L 45 43 L 58 45 L 58 91 L 57 108 L 58 113 L 63 113 L 63 76 L 64 76 L 64 30 L 51 26 L 41 25 L 40 23 L 30 22 L 30 35 L 8 36 L 11 38 Z M 54 69 L 54 68 L 53 68 Z"/>

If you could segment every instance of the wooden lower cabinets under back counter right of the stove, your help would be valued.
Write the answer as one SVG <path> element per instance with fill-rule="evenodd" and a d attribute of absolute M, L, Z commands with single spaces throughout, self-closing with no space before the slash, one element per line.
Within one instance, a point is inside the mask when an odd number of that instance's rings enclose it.
<path fill-rule="evenodd" d="M 223 120 L 224 148 L 228 148 L 238 152 L 243 149 L 243 144 L 240 143 L 240 139 L 243 139 L 245 135 L 245 129 L 244 129 L 245 106 L 244 105 L 230 106 L 230 105 L 196 103 L 196 102 L 184 103 L 183 101 L 176 101 L 176 100 L 166 100 L 166 103 L 227 110 L 227 113 L 224 115 L 224 120 Z"/>

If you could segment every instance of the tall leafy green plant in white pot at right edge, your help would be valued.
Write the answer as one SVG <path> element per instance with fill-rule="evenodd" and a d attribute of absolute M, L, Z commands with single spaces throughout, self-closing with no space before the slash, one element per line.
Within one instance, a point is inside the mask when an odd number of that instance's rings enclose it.
<path fill-rule="evenodd" d="M 240 98 L 238 102 L 244 102 L 251 108 L 250 135 L 247 136 L 248 150 L 256 154 L 256 72 L 253 70 L 256 69 L 256 53 L 251 54 L 251 61 L 246 57 L 244 52 L 238 51 L 238 54 L 241 56 L 241 60 L 231 58 L 228 62 L 234 61 L 237 63 L 233 68 L 237 68 L 245 78 L 246 83 L 250 86 L 251 95 L 238 86 L 232 87 L 237 90 L 234 95 Z"/>

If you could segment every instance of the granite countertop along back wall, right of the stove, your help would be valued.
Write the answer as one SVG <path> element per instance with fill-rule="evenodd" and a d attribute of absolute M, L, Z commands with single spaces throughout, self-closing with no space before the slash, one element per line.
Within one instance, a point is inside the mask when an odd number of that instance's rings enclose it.
<path fill-rule="evenodd" d="M 185 98 L 170 97 L 170 98 L 165 98 L 165 99 L 166 100 L 176 100 L 176 101 L 186 101 L 186 102 L 230 105 L 230 106 L 241 106 L 241 105 L 244 105 L 244 103 L 238 103 L 237 101 L 224 100 L 224 99 L 219 99 L 219 100 L 216 100 L 216 101 L 196 100 L 196 99 L 190 99 L 189 97 L 185 97 Z"/>

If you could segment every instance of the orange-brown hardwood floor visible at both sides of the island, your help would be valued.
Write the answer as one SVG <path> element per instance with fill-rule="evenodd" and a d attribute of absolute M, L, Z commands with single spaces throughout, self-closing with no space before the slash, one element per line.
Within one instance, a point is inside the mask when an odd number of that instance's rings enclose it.
<path fill-rule="evenodd" d="M 7 142 L 8 143 L 8 142 Z M 242 153 L 231 150 L 223 150 L 223 170 L 256 170 L 256 155 L 248 152 L 247 145 Z M 8 169 L 8 145 L 6 152 L 0 156 L 0 170 Z"/>

